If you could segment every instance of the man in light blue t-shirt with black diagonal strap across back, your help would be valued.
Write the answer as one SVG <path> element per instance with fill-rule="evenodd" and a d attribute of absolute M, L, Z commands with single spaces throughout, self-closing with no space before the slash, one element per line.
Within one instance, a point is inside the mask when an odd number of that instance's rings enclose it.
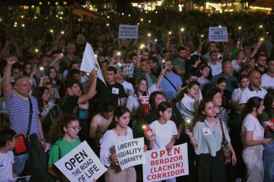
<path fill-rule="evenodd" d="M 177 91 L 181 90 L 183 85 L 181 78 L 172 69 L 172 61 L 166 60 L 166 73 L 159 86 L 160 91 L 163 91 L 169 100 L 175 97 Z"/>

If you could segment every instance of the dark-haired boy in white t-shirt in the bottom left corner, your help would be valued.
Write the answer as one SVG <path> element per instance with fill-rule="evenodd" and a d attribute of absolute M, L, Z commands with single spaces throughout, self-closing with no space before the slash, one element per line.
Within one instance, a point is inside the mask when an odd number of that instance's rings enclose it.
<path fill-rule="evenodd" d="M 0 181 L 8 181 L 18 177 L 12 171 L 14 156 L 12 149 L 15 146 L 15 132 L 11 129 L 5 129 L 0 132 Z"/>

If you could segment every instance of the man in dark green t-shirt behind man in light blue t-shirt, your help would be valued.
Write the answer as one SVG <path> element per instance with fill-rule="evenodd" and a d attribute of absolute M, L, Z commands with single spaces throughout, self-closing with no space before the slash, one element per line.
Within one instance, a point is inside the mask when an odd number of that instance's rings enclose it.
<path fill-rule="evenodd" d="M 173 60 L 173 67 L 176 74 L 179 74 L 182 80 L 186 74 L 186 48 L 178 48 L 178 57 Z"/>

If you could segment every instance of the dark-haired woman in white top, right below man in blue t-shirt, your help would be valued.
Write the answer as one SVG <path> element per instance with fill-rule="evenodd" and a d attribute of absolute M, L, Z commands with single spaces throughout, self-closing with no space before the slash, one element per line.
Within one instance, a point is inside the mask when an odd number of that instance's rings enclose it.
<path fill-rule="evenodd" d="M 184 97 L 179 102 L 179 112 L 184 119 L 192 120 L 194 118 L 195 104 L 199 104 L 200 84 L 197 81 L 189 82 L 184 89 Z"/>

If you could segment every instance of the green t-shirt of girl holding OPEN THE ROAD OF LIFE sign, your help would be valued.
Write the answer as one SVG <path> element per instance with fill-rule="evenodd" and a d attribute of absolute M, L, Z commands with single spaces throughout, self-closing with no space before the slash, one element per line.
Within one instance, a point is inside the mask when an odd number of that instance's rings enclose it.
<path fill-rule="evenodd" d="M 63 138 L 59 139 L 51 146 L 49 151 L 49 165 L 55 164 L 61 157 L 64 157 L 66 153 L 72 151 L 75 147 L 81 144 L 79 139 L 76 139 L 75 142 L 68 142 Z"/>

